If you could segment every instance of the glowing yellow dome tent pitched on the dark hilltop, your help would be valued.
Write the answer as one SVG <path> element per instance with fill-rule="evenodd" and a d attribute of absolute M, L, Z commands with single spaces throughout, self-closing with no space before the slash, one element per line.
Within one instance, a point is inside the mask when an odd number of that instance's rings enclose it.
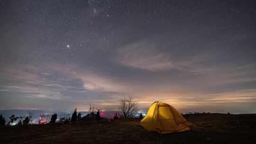
<path fill-rule="evenodd" d="M 151 105 L 140 125 L 160 134 L 190 130 L 187 120 L 174 107 L 158 101 Z"/>

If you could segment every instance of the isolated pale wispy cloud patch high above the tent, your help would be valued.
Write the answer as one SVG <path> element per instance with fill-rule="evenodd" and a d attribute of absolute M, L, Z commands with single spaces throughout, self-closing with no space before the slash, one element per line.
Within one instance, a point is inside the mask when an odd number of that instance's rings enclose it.
<path fill-rule="evenodd" d="M 148 41 L 138 41 L 120 47 L 115 60 L 128 67 L 149 71 L 183 70 L 185 68 L 183 63 L 175 62 L 168 53 L 159 52 L 157 46 Z"/>

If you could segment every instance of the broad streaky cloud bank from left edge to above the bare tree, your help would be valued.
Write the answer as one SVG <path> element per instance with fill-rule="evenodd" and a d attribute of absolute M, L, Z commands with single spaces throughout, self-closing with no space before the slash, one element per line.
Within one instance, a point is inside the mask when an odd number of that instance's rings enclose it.
<path fill-rule="evenodd" d="M 75 72 L 75 73 L 74 73 Z M 126 86 L 115 78 L 75 65 L 47 64 L 41 67 L 20 65 L 0 71 L 0 91 L 19 97 L 38 99 L 101 99 L 126 93 Z"/>

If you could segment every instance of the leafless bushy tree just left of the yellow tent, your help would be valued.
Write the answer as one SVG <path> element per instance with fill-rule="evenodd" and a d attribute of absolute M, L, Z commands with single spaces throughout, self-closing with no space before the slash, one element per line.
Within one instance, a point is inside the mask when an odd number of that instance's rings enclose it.
<path fill-rule="evenodd" d="M 129 96 L 128 99 L 123 97 L 119 100 L 119 110 L 121 112 L 121 115 L 125 118 L 133 117 L 138 111 L 138 104 L 133 99 L 133 96 Z"/>

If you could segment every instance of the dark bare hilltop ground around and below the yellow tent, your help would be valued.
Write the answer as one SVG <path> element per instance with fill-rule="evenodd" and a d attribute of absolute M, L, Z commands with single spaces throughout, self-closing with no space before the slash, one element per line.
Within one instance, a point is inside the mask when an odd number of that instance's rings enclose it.
<path fill-rule="evenodd" d="M 256 144 L 256 114 L 188 114 L 191 131 L 159 135 L 139 119 L 0 127 L 0 144 Z"/>

